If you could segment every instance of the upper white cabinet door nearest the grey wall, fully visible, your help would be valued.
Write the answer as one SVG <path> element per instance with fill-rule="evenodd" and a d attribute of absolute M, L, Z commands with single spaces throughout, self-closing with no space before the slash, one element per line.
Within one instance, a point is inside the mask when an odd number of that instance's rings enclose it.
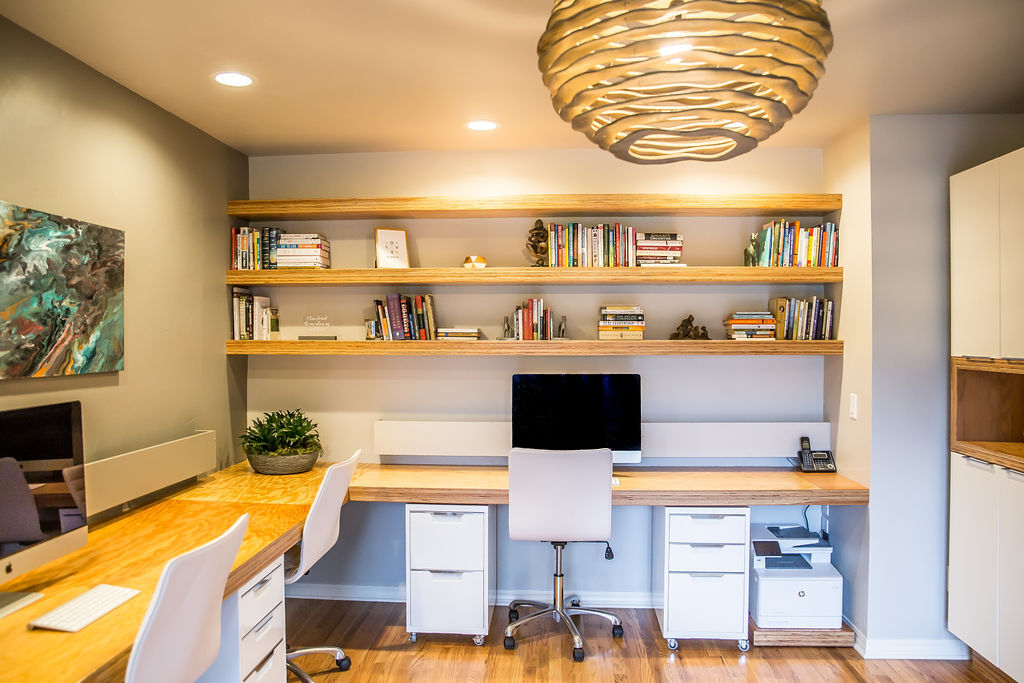
<path fill-rule="evenodd" d="M 999 160 L 949 178 L 949 293 L 950 355 L 998 357 Z"/>

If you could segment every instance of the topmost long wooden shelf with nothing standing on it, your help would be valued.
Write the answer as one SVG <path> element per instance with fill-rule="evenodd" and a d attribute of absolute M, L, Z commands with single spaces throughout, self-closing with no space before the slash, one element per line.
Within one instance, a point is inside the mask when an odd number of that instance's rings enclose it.
<path fill-rule="evenodd" d="M 237 200 L 227 214 L 247 220 L 497 218 L 504 216 L 823 216 L 842 195 L 514 195 Z"/>

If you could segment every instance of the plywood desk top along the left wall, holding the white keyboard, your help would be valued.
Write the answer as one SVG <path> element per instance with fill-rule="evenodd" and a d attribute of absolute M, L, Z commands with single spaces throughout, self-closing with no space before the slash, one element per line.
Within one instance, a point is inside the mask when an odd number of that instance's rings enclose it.
<path fill-rule="evenodd" d="M 89 543 L 0 590 L 45 597 L 0 618 L 0 679 L 121 681 L 135 634 L 164 565 L 223 533 L 243 514 L 249 527 L 227 580 L 233 593 L 295 545 L 326 465 L 301 475 L 264 476 L 247 463 L 89 531 Z M 29 631 L 28 623 L 97 584 L 141 591 L 79 633 Z"/>

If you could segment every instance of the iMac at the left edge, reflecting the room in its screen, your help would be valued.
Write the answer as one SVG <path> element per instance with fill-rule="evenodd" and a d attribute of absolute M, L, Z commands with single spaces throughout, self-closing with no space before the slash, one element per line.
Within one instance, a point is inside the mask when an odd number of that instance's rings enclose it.
<path fill-rule="evenodd" d="M 85 546 L 82 405 L 0 411 L 0 585 Z M 42 597 L 0 591 L 0 616 Z"/>

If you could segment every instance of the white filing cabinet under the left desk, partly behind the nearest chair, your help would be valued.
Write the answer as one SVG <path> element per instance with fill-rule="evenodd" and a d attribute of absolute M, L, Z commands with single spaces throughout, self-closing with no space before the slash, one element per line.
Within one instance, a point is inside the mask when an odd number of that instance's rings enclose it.
<path fill-rule="evenodd" d="M 220 612 L 220 651 L 202 683 L 285 683 L 285 562 L 279 557 Z"/>

